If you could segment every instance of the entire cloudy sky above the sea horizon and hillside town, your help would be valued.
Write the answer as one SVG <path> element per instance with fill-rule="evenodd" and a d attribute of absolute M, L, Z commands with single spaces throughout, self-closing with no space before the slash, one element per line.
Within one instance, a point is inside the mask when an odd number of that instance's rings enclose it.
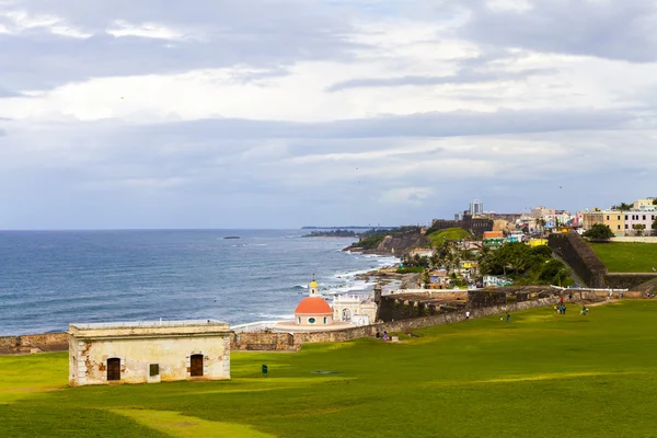
<path fill-rule="evenodd" d="M 654 0 L 0 0 L 0 229 L 657 196 Z"/>

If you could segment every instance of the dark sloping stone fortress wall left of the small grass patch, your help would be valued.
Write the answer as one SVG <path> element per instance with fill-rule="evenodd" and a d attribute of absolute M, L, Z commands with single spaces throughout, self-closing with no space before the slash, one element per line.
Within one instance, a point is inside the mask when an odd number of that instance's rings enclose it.
<path fill-rule="evenodd" d="M 579 234 L 550 234 L 548 244 L 570 265 L 579 278 L 586 283 L 586 286 L 604 287 L 607 267 Z"/>

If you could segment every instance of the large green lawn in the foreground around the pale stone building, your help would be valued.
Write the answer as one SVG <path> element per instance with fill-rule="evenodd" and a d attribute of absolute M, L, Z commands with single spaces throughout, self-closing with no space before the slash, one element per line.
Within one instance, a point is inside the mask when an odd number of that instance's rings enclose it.
<path fill-rule="evenodd" d="M 655 437 L 656 319 L 622 301 L 233 353 L 227 382 L 69 389 L 66 354 L 5 356 L 0 437 Z"/>

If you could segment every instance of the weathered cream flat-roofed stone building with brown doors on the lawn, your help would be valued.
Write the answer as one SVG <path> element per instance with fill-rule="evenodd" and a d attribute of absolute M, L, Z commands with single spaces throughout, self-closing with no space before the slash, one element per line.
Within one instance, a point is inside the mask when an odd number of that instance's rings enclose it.
<path fill-rule="evenodd" d="M 69 384 L 230 379 L 227 323 L 215 320 L 69 325 Z"/>

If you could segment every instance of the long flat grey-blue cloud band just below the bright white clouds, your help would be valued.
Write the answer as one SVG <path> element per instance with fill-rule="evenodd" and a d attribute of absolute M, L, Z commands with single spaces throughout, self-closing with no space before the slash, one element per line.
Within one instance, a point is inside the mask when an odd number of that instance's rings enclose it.
<path fill-rule="evenodd" d="M 153 126 L 160 135 L 201 132 L 221 138 L 384 138 L 454 137 L 518 132 L 568 131 L 619 128 L 634 120 L 629 112 L 595 108 L 499 110 L 492 113 L 454 111 L 390 115 L 326 123 L 205 119 Z M 141 128 L 138 128 L 141 129 Z M 145 128 L 149 129 L 149 128 Z M 153 132 L 157 135 L 157 132 Z"/>

